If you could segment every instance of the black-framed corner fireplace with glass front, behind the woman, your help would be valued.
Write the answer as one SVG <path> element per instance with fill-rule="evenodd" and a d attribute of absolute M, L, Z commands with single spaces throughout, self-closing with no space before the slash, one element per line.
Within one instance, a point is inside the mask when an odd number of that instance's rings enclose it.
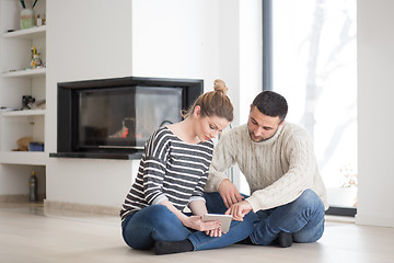
<path fill-rule="evenodd" d="M 58 83 L 57 152 L 139 159 L 149 136 L 182 121 L 204 89 L 196 79 L 127 77 Z"/>

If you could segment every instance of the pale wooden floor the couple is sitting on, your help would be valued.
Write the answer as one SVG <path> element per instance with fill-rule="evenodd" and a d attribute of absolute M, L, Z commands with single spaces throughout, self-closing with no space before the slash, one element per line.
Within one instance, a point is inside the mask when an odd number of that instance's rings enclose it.
<path fill-rule="evenodd" d="M 393 263 L 394 228 L 328 220 L 323 238 L 291 248 L 234 244 L 224 249 L 154 255 L 129 249 L 119 218 L 46 213 L 42 206 L 0 204 L 0 262 L 183 262 L 183 263 Z"/>

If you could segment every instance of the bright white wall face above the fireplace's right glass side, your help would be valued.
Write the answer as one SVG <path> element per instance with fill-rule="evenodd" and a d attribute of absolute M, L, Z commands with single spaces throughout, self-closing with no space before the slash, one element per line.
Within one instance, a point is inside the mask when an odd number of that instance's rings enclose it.
<path fill-rule="evenodd" d="M 213 81 L 220 52 L 217 13 L 218 1 L 135 0 L 132 75 Z"/>

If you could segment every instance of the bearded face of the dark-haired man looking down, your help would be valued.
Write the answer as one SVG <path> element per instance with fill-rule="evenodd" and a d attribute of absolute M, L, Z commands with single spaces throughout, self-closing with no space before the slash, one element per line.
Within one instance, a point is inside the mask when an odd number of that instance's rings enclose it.
<path fill-rule="evenodd" d="M 253 141 L 262 141 L 273 137 L 278 128 L 285 123 L 280 123 L 279 116 L 271 117 L 258 111 L 256 106 L 251 106 L 247 121 L 247 128 Z"/>

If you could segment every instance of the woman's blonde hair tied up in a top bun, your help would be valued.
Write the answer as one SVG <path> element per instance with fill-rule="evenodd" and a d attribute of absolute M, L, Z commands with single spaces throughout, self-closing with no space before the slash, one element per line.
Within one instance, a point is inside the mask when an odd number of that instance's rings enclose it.
<path fill-rule="evenodd" d="M 200 106 L 201 117 L 218 116 L 232 122 L 234 118 L 234 107 L 227 95 L 229 88 L 225 85 L 224 81 L 217 79 L 213 81 L 213 89 L 215 91 L 209 91 L 199 95 L 188 111 L 183 113 L 183 117 L 187 118 L 188 116 L 192 116 L 196 106 Z"/>

